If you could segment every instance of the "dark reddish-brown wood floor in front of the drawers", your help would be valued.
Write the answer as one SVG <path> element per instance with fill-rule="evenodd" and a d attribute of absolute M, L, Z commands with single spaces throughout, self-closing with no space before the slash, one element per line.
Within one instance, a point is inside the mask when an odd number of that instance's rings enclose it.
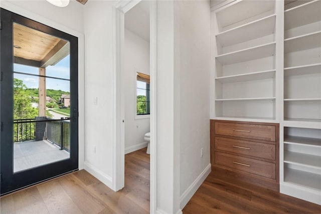
<path fill-rule="evenodd" d="M 321 206 L 211 172 L 183 213 L 321 213 Z"/>

